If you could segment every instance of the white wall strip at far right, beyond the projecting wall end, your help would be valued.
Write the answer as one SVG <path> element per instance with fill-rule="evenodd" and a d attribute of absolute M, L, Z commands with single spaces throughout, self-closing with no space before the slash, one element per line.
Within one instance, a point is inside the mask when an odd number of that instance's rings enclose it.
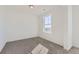
<path fill-rule="evenodd" d="M 79 48 L 79 6 L 72 7 L 72 18 L 73 18 L 73 46 Z"/>

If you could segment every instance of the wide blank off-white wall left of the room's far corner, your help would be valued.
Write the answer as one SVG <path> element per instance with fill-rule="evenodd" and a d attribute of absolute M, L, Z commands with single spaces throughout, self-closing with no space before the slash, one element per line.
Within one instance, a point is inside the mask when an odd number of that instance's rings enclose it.
<path fill-rule="evenodd" d="M 27 10 L 24 9 L 19 10 L 16 6 L 7 7 L 7 41 L 37 36 L 37 18 L 34 14 L 27 14 Z"/>

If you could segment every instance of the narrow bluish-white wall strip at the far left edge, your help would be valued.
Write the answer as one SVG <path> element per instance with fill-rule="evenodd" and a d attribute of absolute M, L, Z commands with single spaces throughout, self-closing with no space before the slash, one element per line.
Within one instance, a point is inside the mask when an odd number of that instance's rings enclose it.
<path fill-rule="evenodd" d="M 6 44 L 5 7 L 0 6 L 0 52 Z"/>

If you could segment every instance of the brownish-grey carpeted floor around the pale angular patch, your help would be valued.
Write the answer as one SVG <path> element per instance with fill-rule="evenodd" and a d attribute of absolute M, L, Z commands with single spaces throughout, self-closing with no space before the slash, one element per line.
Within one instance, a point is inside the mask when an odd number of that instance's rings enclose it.
<path fill-rule="evenodd" d="M 1 54 L 29 54 L 38 44 L 44 45 L 49 49 L 48 54 L 78 54 L 79 48 L 72 48 L 70 51 L 66 51 L 63 47 L 49 42 L 40 37 L 29 38 L 24 40 L 18 40 L 8 42 L 3 48 Z"/>

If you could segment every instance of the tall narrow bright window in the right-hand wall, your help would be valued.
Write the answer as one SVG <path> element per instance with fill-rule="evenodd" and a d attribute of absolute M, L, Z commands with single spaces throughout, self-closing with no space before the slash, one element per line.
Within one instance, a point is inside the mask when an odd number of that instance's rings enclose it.
<path fill-rule="evenodd" d="M 51 16 L 43 16 L 43 31 L 51 33 Z"/>

